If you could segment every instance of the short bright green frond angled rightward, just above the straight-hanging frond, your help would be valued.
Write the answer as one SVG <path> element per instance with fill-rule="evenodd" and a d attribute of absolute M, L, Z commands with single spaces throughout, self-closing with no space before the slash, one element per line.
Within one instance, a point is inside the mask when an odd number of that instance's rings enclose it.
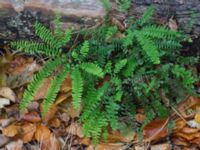
<path fill-rule="evenodd" d="M 99 66 L 97 66 L 96 64 L 93 64 L 93 63 L 82 63 L 80 65 L 80 67 L 84 71 L 86 71 L 86 72 L 88 72 L 88 73 L 90 73 L 92 75 L 95 75 L 97 77 L 103 78 L 103 76 L 104 76 L 103 70 Z"/>

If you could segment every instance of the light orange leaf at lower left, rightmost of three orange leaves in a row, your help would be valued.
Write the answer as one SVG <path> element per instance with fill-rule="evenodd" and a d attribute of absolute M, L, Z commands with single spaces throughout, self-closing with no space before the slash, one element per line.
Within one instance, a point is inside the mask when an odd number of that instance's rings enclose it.
<path fill-rule="evenodd" d="M 38 142 L 49 140 L 51 136 L 51 131 L 44 125 L 38 125 L 35 132 L 35 139 Z"/>

